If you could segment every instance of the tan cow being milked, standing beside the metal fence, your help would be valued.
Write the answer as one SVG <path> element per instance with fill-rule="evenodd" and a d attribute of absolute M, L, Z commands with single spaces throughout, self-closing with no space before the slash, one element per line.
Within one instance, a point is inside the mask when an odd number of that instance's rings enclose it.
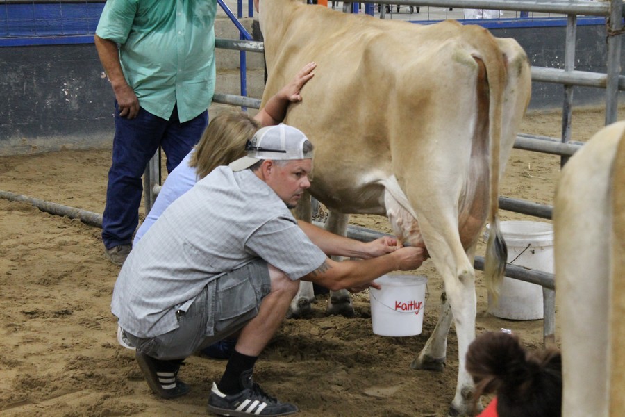
<path fill-rule="evenodd" d="M 344 232 L 341 213 L 387 215 L 394 233 L 426 247 L 440 272 L 441 317 L 412 367 L 444 366 L 453 313 L 460 370 L 450 413 L 467 413 L 474 252 L 487 218 L 500 243 L 491 241 L 490 251 L 505 252 L 498 186 L 531 94 L 526 54 L 479 26 L 419 26 L 294 0 L 260 0 L 260 28 L 269 74 L 263 101 L 304 63 L 317 63 L 285 123 L 315 144 L 310 194 L 330 208 L 328 224 Z M 493 253 L 487 276 L 497 281 L 506 255 Z M 311 290 L 296 297 L 295 313 Z"/>

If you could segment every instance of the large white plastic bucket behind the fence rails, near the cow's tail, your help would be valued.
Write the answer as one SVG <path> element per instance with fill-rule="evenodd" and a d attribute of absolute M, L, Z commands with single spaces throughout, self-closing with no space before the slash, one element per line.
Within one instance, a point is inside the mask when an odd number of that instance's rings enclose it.
<path fill-rule="evenodd" d="M 501 222 L 508 245 L 508 263 L 553 273 L 553 227 L 545 222 Z M 488 239 L 488 226 L 485 233 Z M 511 320 L 543 318 L 542 286 L 503 277 L 499 302 L 488 296 L 488 311 Z"/>

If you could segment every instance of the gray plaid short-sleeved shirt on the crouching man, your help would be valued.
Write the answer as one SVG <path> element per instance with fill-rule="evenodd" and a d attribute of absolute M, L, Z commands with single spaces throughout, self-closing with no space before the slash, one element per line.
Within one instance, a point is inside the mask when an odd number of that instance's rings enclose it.
<path fill-rule="evenodd" d="M 178 327 L 208 282 L 253 259 L 299 279 L 326 255 L 297 226 L 284 202 L 250 170 L 219 167 L 176 199 L 133 247 L 119 272 L 111 309 L 142 338 Z"/>

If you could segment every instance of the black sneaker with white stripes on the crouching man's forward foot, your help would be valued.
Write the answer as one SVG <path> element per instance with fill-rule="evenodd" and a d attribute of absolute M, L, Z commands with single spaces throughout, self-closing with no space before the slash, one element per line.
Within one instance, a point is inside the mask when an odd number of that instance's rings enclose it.
<path fill-rule="evenodd" d="M 213 382 L 213 389 L 208 395 L 208 411 L 219 416 L 286 416 L 299 411 L 294 404 L 279 402 L 270 397 L 263 389 L 253 382 L 251 370 L 241 377 L 245 388 L 240 393 L 226 395 L 219 391 Z"/>

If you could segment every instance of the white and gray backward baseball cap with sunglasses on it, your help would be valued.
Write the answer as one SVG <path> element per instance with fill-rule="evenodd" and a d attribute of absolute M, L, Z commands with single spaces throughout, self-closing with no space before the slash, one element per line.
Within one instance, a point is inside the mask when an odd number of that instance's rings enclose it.
<path fill-rule="evenodd" d="M 229 166 L 233 171 L 242 171 L 261 159 L 288 161 L 313 158 L 312 151 L 306 152 L 303 149 L 306 140 L 308 138 L 301 130 L 287 124 L 263 127 L 247 141 L 247 156 L 231 162 Z"/>

